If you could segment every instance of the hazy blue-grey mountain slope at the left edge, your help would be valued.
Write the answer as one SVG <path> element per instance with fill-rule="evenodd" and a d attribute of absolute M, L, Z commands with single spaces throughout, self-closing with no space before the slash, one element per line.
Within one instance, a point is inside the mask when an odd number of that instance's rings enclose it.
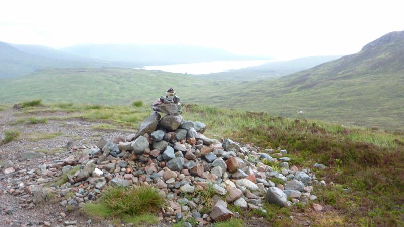
<path fill-rule="evenodd" d="M 0 42 L 0 78 L 16 77 L 44 68 L 139 67 L 134 63 L 83 58 L 46 46 Z"/>

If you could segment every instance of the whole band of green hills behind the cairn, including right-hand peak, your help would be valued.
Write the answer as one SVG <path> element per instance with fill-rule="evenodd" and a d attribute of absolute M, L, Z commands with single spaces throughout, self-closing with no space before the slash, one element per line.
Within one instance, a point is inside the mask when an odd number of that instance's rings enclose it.
<path fill-rule="evenodd" d="M 174 87 L 182 103 L 266 111 L 347 125 L 404 129 L 404 32 L 288 76 L 217 81 L 140 69 L 47 69 L 0 80 L 0 100 L 127 104 Z"/>

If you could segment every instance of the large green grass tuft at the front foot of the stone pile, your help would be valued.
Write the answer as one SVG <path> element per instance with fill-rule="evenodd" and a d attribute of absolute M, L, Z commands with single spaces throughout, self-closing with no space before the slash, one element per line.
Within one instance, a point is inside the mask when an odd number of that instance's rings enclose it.
<path fill-rule="evenodd" d="M 86 203 L 83 210 L 92 217 L 155 223 L 156 217 L 150 213 L 157 213 L 164 206 L 164 198 L 151 186 L 107 187 L 97 203 Z"/>

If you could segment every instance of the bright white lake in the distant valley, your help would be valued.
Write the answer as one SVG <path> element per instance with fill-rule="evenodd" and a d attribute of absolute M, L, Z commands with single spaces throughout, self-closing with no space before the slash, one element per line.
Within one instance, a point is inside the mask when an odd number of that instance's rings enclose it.
<path fill-rule="evenodd" d="M 216 62 L 189 63 L 189 64 L 176 64 L 176 65 L 164 65 L 164 66 L 145 66 L 141 69 L 162 70 L 171 73 L 209 74 L 209 73 L 226 72 L 228 70 L 242 69 L 251 66 L 259 66 L 266 62 L 271 62 L 271 60 L 216 61 Z"/>

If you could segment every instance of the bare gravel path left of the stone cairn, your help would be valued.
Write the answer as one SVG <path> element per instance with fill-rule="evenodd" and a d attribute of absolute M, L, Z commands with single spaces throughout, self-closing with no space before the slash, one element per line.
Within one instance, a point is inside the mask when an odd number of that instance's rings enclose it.
<path fill-rule="evenodd" d="M 66 146 L 80 147 L 82 145 L 95 145 L 101 137 L 113 140 L 118 136 L 125 136 L 128 132 L 91 129 L 91 126 L 100 124 L 82 120 L 48 120 L 44 124 L 18 124 L 12 125 L 18 119 L 26 117 L 45 117 L 39 115 L 21 115 L 15 110 L 0 111 L 0 138 L 4 138 L 4 131 L 16 129 L 20 131 L 18 140 L 0 146 L 0 164 L 10 160 L 18 164 L 21 169 L 31 169 L 43 163 L 51 163 L 53 159 L 63 159 L 69 156 Z M 66 117 L 63 112 L 46 113 L 46 117 Z M 53 138 L 41 139 L 49 134 L 56 134 Z M 42 158 L 25 160 L 22 158 L 26 152 L 47 151 L 49 154 Z M 53 153 L 56 152 L 56 153 Z M 0 190 L 7 188 L 8 182 L 0 173 Z M 63 225 L 64 221 L 77 220 L 77 226 L 109 226 L 108 221 L 92 220 L 87 224 L 88 217 L 80 210 L 66 212 L 56 203 L 43 203 L 33 209 L 24 209 L 20 206 L 18 197 L 3 193 L 0 195 L 0 225 L 1 226 L 42 226 L 48 222 L 50 226 Z M 46 223 L 46 224 L 48 224 Z"/>

